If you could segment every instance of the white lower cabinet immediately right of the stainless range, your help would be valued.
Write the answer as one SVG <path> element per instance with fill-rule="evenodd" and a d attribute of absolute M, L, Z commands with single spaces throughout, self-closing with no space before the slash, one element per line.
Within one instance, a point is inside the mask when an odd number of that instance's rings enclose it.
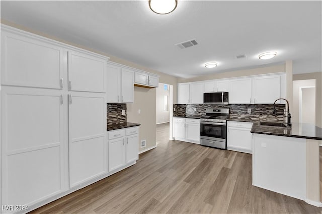
<path fill-rule="evenodd" d="M 253 123 L 227 121 L 227 149 L 252 154 Z"/>

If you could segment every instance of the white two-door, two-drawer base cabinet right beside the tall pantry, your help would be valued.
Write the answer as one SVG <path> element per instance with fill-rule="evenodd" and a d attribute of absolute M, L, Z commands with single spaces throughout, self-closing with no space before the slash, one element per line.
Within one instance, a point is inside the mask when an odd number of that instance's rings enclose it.
<path fill-rule="evenodd" d="M 115 172 L 138 160 L 139 128 L 108 131 L 109 172 Z"/>

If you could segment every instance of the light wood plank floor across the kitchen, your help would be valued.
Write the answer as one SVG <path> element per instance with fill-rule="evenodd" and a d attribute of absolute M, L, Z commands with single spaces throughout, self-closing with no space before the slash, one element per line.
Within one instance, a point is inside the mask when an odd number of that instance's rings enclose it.
<path fill-rule="evenodd" d="M 252 186 L 252 155 L 169 141 L 137 164 L 33 213 L 322 213 L 304 201 Z"/>

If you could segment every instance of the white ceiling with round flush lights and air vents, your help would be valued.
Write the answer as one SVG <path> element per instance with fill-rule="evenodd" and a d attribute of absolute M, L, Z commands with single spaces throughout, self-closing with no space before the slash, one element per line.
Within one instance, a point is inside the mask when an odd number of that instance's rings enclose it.
<path fill-rule="evenodd" d="M 1 19 L 178 77 L 280 64 L 321 72 L 321 1 L 1 1 Z M 196 39 L 197 46 L 175 44 Z M 276 51 L 270 60 L 258 54 Z M 246 54 L 246 58 L 236 56 Z M 218 62 L 216 68 L 204 64 Z"/>

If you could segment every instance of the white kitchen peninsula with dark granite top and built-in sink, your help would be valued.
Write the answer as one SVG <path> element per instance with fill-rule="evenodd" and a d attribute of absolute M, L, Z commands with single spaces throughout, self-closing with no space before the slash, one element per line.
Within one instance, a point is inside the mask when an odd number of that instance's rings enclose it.
<path fill-rule="evenodd" d="M 321 207 L 319 145 L 322 129 L 306 123 L 274 127 L 254 122 L 253 185 Z"/>

